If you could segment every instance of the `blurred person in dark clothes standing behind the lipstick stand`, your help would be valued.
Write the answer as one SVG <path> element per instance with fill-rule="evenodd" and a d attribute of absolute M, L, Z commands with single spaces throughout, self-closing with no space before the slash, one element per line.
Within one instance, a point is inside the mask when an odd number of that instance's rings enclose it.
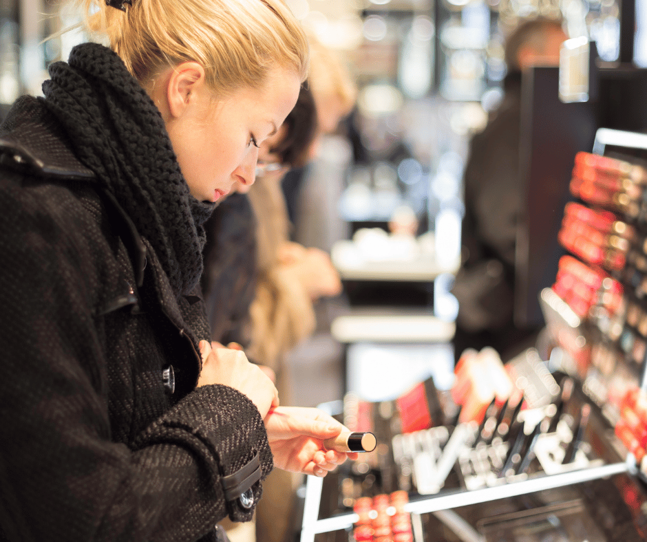
<path fill-rule="evenodd" d="M 500 106 L 472 138 L 465 167 L 463 263 L 452 293 L 459 303 L 455 356 L 467 347 L 491 346 L 504 361 L 533 345 L 539 329 L 513 321 L 517 225 L 524 213 L 520 184 L 522 74 L 532 66 L 557 66 L 566 39 L 562 22 L 524 21 L 505 46 L 507 75 Z"/>

